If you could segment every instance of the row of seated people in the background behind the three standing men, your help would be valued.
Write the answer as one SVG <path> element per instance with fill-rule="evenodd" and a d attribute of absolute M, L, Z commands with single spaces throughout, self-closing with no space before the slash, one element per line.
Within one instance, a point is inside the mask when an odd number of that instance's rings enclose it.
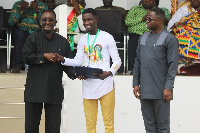
<path fill-rule="evenodd" d="M 138 39 L 144 32 L 148 31 L 145 21 L 146 15 L 149 9 L 159 6 L 159 0 L 141 0 L 140 3 L 138 3 L 138 6 L 134 6 L 128 11 L 126 11 L 122 7 L 114 6 L 112 4 L 113 0 L 102 1 L 103 5 L 100 7 L 96 7 L 95 9 L 119 9 L 121 11 L 121 31 L 126 31 L 129 35 L 127 45 L 128 71 L 126 72 L 126 74 L 133 74 Z M 61 3 L 59 3 L 59 5 L 60 4 Z M 81 13 L 85 8 L 86 3 L 85 0 L 77 0 L 73 3 L 71 3 L 70 0 L 67 0 L 66 3 L 63 2 L 63 4 L 66 5 L 68 9 L 68 15 L 70 15 L 70 12 L 75 7 L 76 16 L 73 17 L 74 23 L 68 23 L 68 32 L 80 33 L 76 35 L 68 34 L 68 41 L 70 42 L 71 50 L 74 51 L 74 45 L 76 46 L 78 44 L 80 37 L 85 33 L 85 29 L 82 25 Z M 40 13 L 47 8 L 51 10 L 55 9 L 54 11 L 56 12 L 58 17 L 59 5 L 56 3 L 55 0 L 37 0 L 32 1 L 30 5 L 28 2 L 22 0 L 16 2 L 13 5 L 11 15 L 8 20 L 9 24 L 13 27 L 12 40 L 13 45 L 15 46 L 11 63 L 12 73 L 20 73 L 20 70 L 24 69 L 25 64 L 22 62 L 21 49 L 27 36 L 32 34 L 34 31 L 40 30 L 40 26 L 38 23 Z M 170 11 L 165 7 L 161 8 L 165 12 L 164 26 L 166 28 L 168 26 L 167 29 L 179 39 L 180 60 L 177 74 L 199 75 L 199 1 L 186 0 L 181 5 L 182 6 L 180 7 L 180 9 L 178 9 L 172 19 Z M 190 15 L 190 17 L 188 15 Z M 56 19 L 58 21 L 58 18 Z M 57 32 L 59 32 L 58 23 L 56 26 Z M 182 25 L 189 25 L 189 27 L 191 27 L 192 29 L 188 30 L 188 26 L 187 28 L 181 29 L 180 26 Z M 187 32 L 184 32 L 185 34 L 187 34 L 186 36 L 183 35 L 183 31 L 185 30 L 187 30 Z M 192 32 L 190 32 L 191 30 Z M 195 37 L 193 37 L 194 35 Z M 74 51 L 74 55 L 75 53 L 76 51 Z"/>

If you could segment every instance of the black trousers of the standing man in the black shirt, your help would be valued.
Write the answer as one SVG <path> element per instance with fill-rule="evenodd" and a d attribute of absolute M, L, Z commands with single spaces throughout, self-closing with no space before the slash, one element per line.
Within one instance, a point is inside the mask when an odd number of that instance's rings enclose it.
<path fill-rule="evenodd" d="M 43 103 L 25 102 L 25 133 L 39 133 Z M 62 104 L 44 103 L 45 133 L 60 133 Z"/>

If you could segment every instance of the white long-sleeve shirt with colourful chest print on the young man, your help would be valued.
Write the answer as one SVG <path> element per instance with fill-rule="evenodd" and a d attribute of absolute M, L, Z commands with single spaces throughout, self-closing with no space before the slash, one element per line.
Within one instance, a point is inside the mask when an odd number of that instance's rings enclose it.
<path fill-rule="evenodd" d="M 86 79 L 82 81 L 82 94 L 85 99 L 98 99 L 103 95 L 109 93 L 113 89 L 113 76 L 121 66 L 121 59 L 118 54 L 117 46 L 112 35 L 105 31 L 99 32 L 96 41 L 94 43 L 91 55 L 90 63 L 87 51 L 88 34 L 81 37 L 78 46 L 77 54 L 74 59 L 65 58 L 65 62 L 62 63 L 66 66 L 80 66 L 85 59 L 85 66 L 92 68 L 101 68 L 103 71 L 111 71 L 112 75 L 104 80 L 101 79 Z M 95 35 L 90 35 L 89 45 L 92 46 Z M 85 49 L 84 49 L 85 48 Z M 95 53 L 100 49 L 102 58 L 95 58 Z M 96 56 L 97 57 L 97 56 Z M 112 58 L 112 66 L 110 67 L 110 57 Z"/>

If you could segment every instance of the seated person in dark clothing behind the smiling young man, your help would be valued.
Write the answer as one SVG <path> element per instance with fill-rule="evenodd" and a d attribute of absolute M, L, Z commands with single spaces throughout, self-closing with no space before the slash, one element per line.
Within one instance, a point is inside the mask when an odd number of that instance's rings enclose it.
<path fill-rule="evenodd" d="M 103 6 L 96 7 L 95 9 L 119 9 L 121 10 L 121 30 L 126 31 L 127 27 L 125 25 L 125 19 L 126 19 L 126 10 L 122 7 L 113 6 L 112 5 L 113 0 L 103 0 Z"/>

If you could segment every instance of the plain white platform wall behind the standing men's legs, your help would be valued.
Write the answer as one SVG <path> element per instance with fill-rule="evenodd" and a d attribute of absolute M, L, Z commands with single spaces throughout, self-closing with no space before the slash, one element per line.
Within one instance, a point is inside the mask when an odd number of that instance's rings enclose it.
<path fill-rule="evenodd" d="M 177 76 L 171 102 L 171 133 L 200 133 L 200 77 Z M 145 133 L 140 103 L 132 93 L 132 76 L 115 76 L 115 133 Z M 81 81 L 67 81 L 64 133 L 85 133 Z M 104 133 L 101 111 L 97 132 Z"/>

